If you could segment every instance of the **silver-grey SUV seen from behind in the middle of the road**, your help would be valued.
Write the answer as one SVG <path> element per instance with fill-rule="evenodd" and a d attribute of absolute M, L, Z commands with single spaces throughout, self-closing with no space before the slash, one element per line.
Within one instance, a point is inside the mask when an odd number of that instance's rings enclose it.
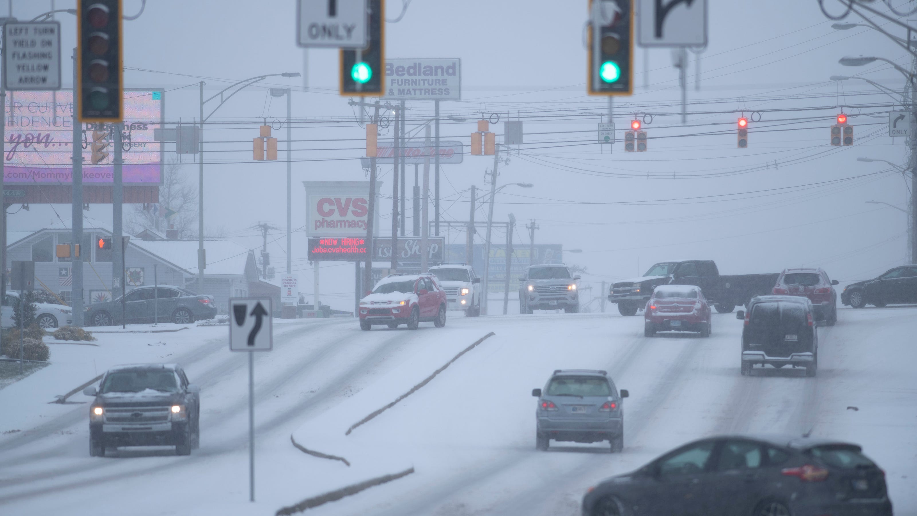
<path fill-rule="evenodd" d="M 551 439 L 597 443 L 608 441 L 612 452 L 624 449 L 624 407 L 628 396 L 619 395 L 606 371 L 557 369 L 545 389 L 533 389 L 536 449 L 547 450 Z"/>

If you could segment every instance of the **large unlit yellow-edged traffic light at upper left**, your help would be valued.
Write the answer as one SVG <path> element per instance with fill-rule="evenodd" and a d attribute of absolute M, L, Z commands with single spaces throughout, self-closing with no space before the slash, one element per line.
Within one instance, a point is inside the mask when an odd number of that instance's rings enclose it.
<path fill-rule="evenodd" d="M 81 122 L 121 122 L 121 0 L 78 0 L 76 98 Z"/>

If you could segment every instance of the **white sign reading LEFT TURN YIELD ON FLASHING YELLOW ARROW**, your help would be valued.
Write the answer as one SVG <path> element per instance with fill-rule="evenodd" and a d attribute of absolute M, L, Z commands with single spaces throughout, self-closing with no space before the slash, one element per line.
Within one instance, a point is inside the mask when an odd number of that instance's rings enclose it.
<path fill-rule="evenodd" d="M 61 23 L 7 23 L 3 87 L 13 92 L 61 89 Z"/>

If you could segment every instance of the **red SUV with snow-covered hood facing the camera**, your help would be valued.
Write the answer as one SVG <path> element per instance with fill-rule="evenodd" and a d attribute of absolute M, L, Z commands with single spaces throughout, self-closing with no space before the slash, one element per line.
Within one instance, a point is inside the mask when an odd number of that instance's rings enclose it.
<path fill-rule="evenodd" d="M 373 324 L 390 328 L 407 324 L 409 330 L 416 330 L 424 322 L 432 322 L 437 328 L 446 325 L 446 291 L 430 273 L 386 276 L 359 301 L 362 330 L 369 330 Z"/>

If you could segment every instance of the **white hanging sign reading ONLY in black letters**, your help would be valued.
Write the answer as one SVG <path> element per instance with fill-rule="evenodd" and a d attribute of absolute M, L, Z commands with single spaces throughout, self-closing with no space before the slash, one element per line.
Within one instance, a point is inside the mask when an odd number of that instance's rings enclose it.
<path fill-rule="evenodd" d="M 370 43 L 368 13 L 367 0 L 299 0 L 296 44 L 365 49 Z"/>

